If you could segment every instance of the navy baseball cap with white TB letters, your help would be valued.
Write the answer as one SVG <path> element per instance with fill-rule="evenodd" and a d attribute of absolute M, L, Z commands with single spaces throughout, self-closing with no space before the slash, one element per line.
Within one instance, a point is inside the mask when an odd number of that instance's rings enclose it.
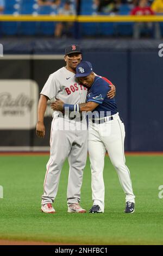
<path fill-rule="evenodd" d="M 75 77 L 89 76 L 92 71 L 92 64 L 90 62 L 80 62 L 77 65 Z"/>

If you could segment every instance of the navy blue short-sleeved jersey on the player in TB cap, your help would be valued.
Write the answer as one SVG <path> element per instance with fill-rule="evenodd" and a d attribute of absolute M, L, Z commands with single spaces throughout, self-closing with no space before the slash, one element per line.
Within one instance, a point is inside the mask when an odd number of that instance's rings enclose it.
<path fill-rule="evenodd" d="M 94 111 L 98 112 L 98 115 L 100 114 L 100 117 L 102 117 L 102 112 L 104 114 L 104 117 L 108 115 L 107 112 L 109 111 L 110 115 L 114 115 L 117 113 L 115 98 L 109 99 L 106 95 L 110 90 L 110 84 L 111 82 L 105 77 L 96 76 L 89 92 L 87 93 L 86 102 L 93 101 L 99 103 Z"/>

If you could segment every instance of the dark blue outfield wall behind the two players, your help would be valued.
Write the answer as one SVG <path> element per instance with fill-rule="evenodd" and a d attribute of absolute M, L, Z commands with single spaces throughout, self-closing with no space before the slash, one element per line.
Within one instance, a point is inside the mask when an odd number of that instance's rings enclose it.
<path fill-rule="evenodd" d="M 71 42 L 71 41 L 70 41 Z M 74 42 L 74 41 L 73 41 Z M 100 41 L 99 41 L 100 42 Z M 118 111 L 126 126 L 125 149 L 127 151 L 163 151 L 163 57 L 159 57 L 159 42 L 140 42 L 139 45 L 114 44 L 99 46 L 99 42 L 79 42 L 83 48 L 83 60 L 89 60 L 96 74 L 105 76 L 116 86 Z M 5 54 L 61 54 L 69 42 L 53 44 L 40 41 L 10 49 L 4 42 Z M 57 44 L 57 45 L 56 45 Z M 5 48 L 6 46 L 6 48 Z M 5 56 L 5 55 L 4 55 Z M 31 56 L 31 55 L 30 55 Z M 65 65 L 64 60 L 0 58 L 0 79 L 31 79 L 45 84 L 49 74 Z M 48 146 L 52 118 L 45 118 L 46 137 L 39 139 L 35 130 L 1 130 L 0 146 Z M 17 136 L 19 140 L 17 140 Z"/>

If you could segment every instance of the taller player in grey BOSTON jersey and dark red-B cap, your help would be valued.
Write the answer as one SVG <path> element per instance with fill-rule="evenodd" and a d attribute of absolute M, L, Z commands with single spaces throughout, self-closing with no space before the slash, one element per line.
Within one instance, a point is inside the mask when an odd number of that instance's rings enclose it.
<path fill-rule="evenodd" d="M 64 101 L 67 104 L 85 102 L 87 88 L 79 84 L 76 80 L 76 67 L 82 60 L 82 52 L 78 45 L 70 45 L 65 49 L 66 66 L 51 74 L 43 87 L 38 106 L 38 121 L 36 125 L 36 135 L 43 138 L 45 136 L 45 126 L 43 118 L 47 107 L 47 101 L 53 98 Z M 109 87 L 108 87 L 109 91 Z M 110 93 L 110 92 L 109 92 Z M 115 87 L 112 87 L 111 94 L 114 96 Z M 84 131 L 78 130 L 77 126 L 82 123 Z M 74 126 L 74 129 L 60 129 L 61 127 Z M 80 188 L 83 180 L 83 170 L 87 158 L 87 124 L 82 117 L 76 121 L 74 118 L 64 117 L 64 113 L 54 111 L 51 126 L 50 157 L 47 163 L 47 171 L 44 181 L 44 191 L 42 195 L 41 210 L 45 213 L 55 213 L 52 203 L 57 196 L 60 173 L 63 163 L 68 157 L 70 165 L 67 205 L 68 212 L 84 213 L 85 209 L 79 205 Z"/>

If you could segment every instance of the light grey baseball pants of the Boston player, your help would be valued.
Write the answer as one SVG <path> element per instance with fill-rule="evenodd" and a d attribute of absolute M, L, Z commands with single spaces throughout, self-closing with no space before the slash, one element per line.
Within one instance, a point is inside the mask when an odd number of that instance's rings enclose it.
<path fill-rule="evenodd" d="M 54 202 L 58 192 L 61 168 L 67 157 L 70 166 L 67 204 L 79 203 L 83 170 L 87 159 L 86 120 L 74 121 L 54 117 L 51 126 L 50 145 L 51 151 L 47 163 L 42 204 Z"/>

